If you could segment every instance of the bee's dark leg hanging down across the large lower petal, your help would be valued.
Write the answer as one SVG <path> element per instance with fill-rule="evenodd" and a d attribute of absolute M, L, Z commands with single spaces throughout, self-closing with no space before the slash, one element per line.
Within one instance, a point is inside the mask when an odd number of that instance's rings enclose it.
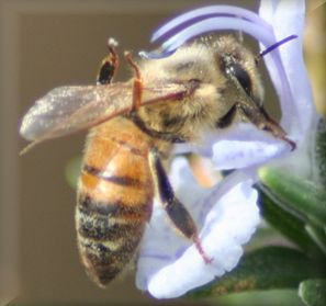
<path fill-rule="evenodd" d="M 193 241 L 204 262 L 207 264 L 211 263 L 213 259 L 209 258 L 203 250 L 195 223 L 184 205 L 175 195 L 168 175 L 157 156 L 154 157 L 154 168 L 159 197 L 170 220 L 186 238 Z"/>

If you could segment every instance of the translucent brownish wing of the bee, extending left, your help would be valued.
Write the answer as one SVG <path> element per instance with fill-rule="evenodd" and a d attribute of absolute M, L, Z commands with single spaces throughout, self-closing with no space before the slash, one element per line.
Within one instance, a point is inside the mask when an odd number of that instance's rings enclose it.
<path fill-rule="evenodd" d="M 184 95 L 184 84 L 146 87 L 143 104 L 176 100 Z M 34 143 L 89 128 L 133 106 L 133 84 L 59 87 L 49 91 L 23 117 L 20 133 Z"/>

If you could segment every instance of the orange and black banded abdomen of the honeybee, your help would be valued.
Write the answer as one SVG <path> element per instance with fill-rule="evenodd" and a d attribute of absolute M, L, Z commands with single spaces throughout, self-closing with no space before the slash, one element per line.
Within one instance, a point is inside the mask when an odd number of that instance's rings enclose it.
<path fill-rule="evenodd" d="M 93 128 L 88 139 L 76 226 L 82 263 L 101 286 L 133 259 L 150 217 L 148 139 L 123 117 Z"/>

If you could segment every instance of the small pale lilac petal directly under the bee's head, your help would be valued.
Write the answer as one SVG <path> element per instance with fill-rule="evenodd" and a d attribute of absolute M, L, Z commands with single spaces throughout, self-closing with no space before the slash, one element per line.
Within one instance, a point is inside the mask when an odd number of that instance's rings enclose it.
<path fill-rule="evenodd" d="M 241 169 L 261 165 L 289 152 L 290 145 L 251 124 L 238 123 L 203 137 L 201 145 L 178 145 L 176 152 L 194 151 L 211 158 L 215 169 Z"/>

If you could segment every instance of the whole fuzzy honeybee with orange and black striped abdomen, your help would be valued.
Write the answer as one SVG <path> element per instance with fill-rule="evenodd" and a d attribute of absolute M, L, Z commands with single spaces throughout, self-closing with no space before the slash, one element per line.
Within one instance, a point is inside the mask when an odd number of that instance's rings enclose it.
<path fill-rule="evenodd" d="M 157 196 L 186 239 L 201 246 L 190 212 L 164 167 L 173 144 L 200 141 L 209 129 L 241 120 L 294 144 L 262 106 L 255 56 L 233 36 L 209 36 L 168 58 L 134 61 L 126 82 L 112 82 L 119 58 L 109 44 L 97 86 L 59 87 L 36 101 L 20 133 L 32 145 L 91 128 L 78 183 L 76 229 L 81 261 L 108 285 L 130 263 Z"/>

